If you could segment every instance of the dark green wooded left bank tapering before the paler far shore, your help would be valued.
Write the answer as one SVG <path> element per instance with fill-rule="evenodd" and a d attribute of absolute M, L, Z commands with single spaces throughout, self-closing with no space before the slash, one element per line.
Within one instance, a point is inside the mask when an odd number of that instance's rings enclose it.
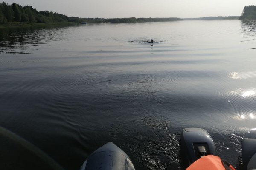
<path fill-rule="evenodd" d="M 32 6 L 20 6 L 17 3 L 8 5 L 5 2 L 0 3 L 0 24 L 8 22 L 24 22 L 24 23 L 137 23 L 137 22 L 159 22 L 159 21 L 175 21 L 182 20 L 180 18 L 79 18 L 68 17 L 64 14 L 49 11 L 37 11 Z"/>

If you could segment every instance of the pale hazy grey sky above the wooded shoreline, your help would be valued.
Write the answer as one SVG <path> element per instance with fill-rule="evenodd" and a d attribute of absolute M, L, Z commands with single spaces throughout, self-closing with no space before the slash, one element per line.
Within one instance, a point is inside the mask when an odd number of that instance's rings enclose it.
<path fill-rule="evenodd" d="M 207 17 L 241 15 L 255 0 L 4 0 L 38 11 L 53 11 L 76 17 Z"/>

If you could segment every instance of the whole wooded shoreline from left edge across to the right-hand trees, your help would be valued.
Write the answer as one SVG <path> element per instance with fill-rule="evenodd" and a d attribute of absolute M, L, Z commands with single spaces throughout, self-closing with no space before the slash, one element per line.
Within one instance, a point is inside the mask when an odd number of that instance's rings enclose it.
<path fill-rule="evenodd" d="M 253 6 L 249 6 L 251 8 Z M 244 9 L 247 9 L 245 7 Z M 239 16 L 229 17 L 201 17 L 201 18 L 177 18 L 177 17 L 155 17 L 155 18 L 80 18 L 68 17 L 50 11 L 37 11 L 32 6 L 20 6 L 17 3 L 8 5 L 0 3 L 0 28 L 28 27 L 28 26 L 60 26 L 87 23 L 147 23 L 168 22 L 181 20 L 238 20 Z"/>

